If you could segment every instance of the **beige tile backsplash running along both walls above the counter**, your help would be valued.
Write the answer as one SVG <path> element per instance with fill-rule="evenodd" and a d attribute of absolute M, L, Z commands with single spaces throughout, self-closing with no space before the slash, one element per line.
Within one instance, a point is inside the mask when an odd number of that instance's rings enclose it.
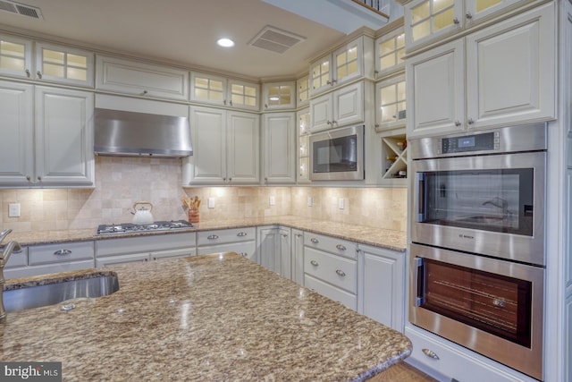
<path fill-rule="evenodd" d="M 181 187 L 181 160 L 97 157 L 96 188 L 0 191 L 0 226 L 14 232 L 93 228 L 131 221 L 134 202 L 153 203 L 156 220 L 186 219 L 184 196 L 201 199 L 200 219 L 296 215 L 406 230 L 407 190 L 331 187 Z M 270 205 L 270 198 L 275 200 Z M 307 198 L 313 200 L 307 206 Z M 214 208 L 208 208 L 208 198 Z M 339 208 L 339 199 L 345 208 Z M 8 205 L 21 204 L 20 217 Z"/>

